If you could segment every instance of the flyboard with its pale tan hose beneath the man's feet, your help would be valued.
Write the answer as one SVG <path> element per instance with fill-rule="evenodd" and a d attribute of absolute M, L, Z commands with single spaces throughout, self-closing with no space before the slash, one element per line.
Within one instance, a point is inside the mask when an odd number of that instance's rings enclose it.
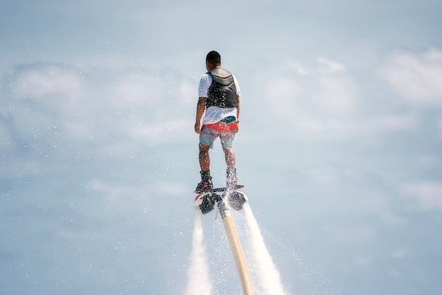
<path fill-rule="evenodd" d="M 244 192 L 239 191 L 241 188 L 244 188 L 244 186 L 238 185 L 233 191 L 227 188 L 213 188 L 210 191 L 194 191 L 194 193 L 198 193 L 195 198 L 195 207 L 201 210 L 201 213 L 207 214 L 212 211 L 215 208 L 215 204 L 217 204 L 222 217 L 222 224 L 224 224 L 227 239 L 232 249 L 235 265 L 237 266 L 242 293 L 243 295 L 253 295 L 254 292 L 246 258 L 244 257 L 237 229 L 230 212 L 230 209 L 241 210 L 242 205 L 249 200 Z"/>

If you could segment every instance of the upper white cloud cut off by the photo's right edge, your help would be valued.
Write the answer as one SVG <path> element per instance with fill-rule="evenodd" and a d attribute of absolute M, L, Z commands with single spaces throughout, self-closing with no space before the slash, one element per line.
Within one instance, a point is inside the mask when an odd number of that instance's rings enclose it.
<path fill-rule="evenodd" d="M 442 52 L 393 54 L 379 71 L 393 89 L 420 107 L 442 107 Z"/>

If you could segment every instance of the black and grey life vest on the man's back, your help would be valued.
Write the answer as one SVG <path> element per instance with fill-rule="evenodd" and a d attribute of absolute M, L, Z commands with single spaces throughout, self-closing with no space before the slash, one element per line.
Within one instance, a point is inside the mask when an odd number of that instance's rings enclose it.
<path fill-rule="evenodd" d="M 205 107 L 237 107 L 237 88 L 232 73 L 224 68 L 213 68 L 208 74 L 212 76 L 212 84 L 208 90 Z"/>

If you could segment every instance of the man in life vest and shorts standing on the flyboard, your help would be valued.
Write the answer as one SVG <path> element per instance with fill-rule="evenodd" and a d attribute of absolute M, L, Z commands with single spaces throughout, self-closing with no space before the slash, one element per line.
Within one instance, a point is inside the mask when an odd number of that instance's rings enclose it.
<path fill-rule="evenodd" d="M 209 191 L 213 188 L 209 148 L 213 148 L 213 142 L 218 137 L 221 140 L 227 164 L 227 190 L 232 190 L 237 187 L 238 183 L 232 144 L 239 130 L 241 92 L 237 78 L 221 68 L 219 53 L 212 51 L 207 54 L 205 68 L 208 72 L 200 80 L 199 99 L 196 106 L 195 132 L 200 135 L 199 162 L 201 167 L 201 182 L 198 183 L 196 191 Z M 204 111 L 203 126 L 200 128 Z"/>

